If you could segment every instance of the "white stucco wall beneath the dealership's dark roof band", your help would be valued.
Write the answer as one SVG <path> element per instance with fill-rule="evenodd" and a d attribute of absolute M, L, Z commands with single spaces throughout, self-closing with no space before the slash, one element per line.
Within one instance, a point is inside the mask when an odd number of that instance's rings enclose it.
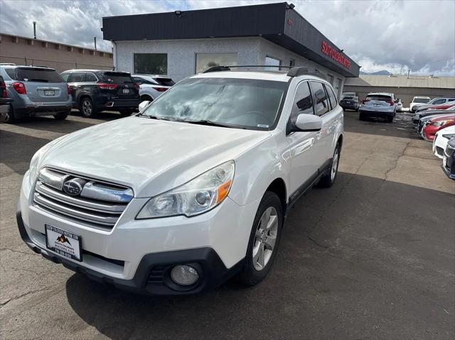
<path fill-rule="evenodd" d="M 292 58 L 296 66 L 317 69 L 323 75 L 341 79 L 340 93 L 345 80 L 342 75 L 260 37 L 118 41 L 114 44 L 116 70 L 134 72 L 134 53 L 167 53 L 168 75 L 175 81 L 194 74 L 196 53 L 237 53 L 237 65 L 264 65 L 268 55 L 287 66 Z"/>

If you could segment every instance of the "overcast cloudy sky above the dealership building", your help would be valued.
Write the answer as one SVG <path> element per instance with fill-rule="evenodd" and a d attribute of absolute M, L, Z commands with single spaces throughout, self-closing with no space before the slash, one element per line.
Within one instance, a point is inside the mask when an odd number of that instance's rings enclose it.
<path fill-rule="evenodd" d="M 0 32 L 110 50 L 103 16 L 188 11 L 282 0 L 0 0 Z M 291 0 L 295 10 L 372 72 L 455 76 L 455 1 Z M 132 22 L 132 25 L 134 23 Z"/>

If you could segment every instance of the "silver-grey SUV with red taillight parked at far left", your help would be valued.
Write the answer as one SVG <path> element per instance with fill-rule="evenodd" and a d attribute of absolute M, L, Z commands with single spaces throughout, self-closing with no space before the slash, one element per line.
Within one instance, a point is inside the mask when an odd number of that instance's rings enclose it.
<path fill-rule="evenodd" d="M 53 68 L 0 65 L 6 93 L 13 99 L 6 122 L 24 116 L 54 116 L 66 119 L 73 101 L 68 85 Z"/>

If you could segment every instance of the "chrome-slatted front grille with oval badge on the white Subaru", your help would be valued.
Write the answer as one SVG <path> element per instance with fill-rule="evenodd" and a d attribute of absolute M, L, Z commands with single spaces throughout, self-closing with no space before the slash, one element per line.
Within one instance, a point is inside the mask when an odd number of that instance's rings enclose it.
<path fill-rule="evenodd" d="M 68 182 L 79 183 L 80 192 L 64 188 Z M 33 202 L 41 209 L 88 226 L 112 229 L 132 197 L 132 190 L 127 187 L 44 168 L 36 182 Z"/>

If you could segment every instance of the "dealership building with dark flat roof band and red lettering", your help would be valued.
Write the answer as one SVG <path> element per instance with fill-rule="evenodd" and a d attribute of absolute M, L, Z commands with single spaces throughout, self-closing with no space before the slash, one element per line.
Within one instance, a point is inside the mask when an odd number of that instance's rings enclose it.
<path fill-rule="evenodd" d="M 102 19 L 102 31 L 114 45 L 116 70 L 176 81 L 218 65 L 304 66 L 340 96 L 360 69 L 285 2 L 111 16 Z"/>

